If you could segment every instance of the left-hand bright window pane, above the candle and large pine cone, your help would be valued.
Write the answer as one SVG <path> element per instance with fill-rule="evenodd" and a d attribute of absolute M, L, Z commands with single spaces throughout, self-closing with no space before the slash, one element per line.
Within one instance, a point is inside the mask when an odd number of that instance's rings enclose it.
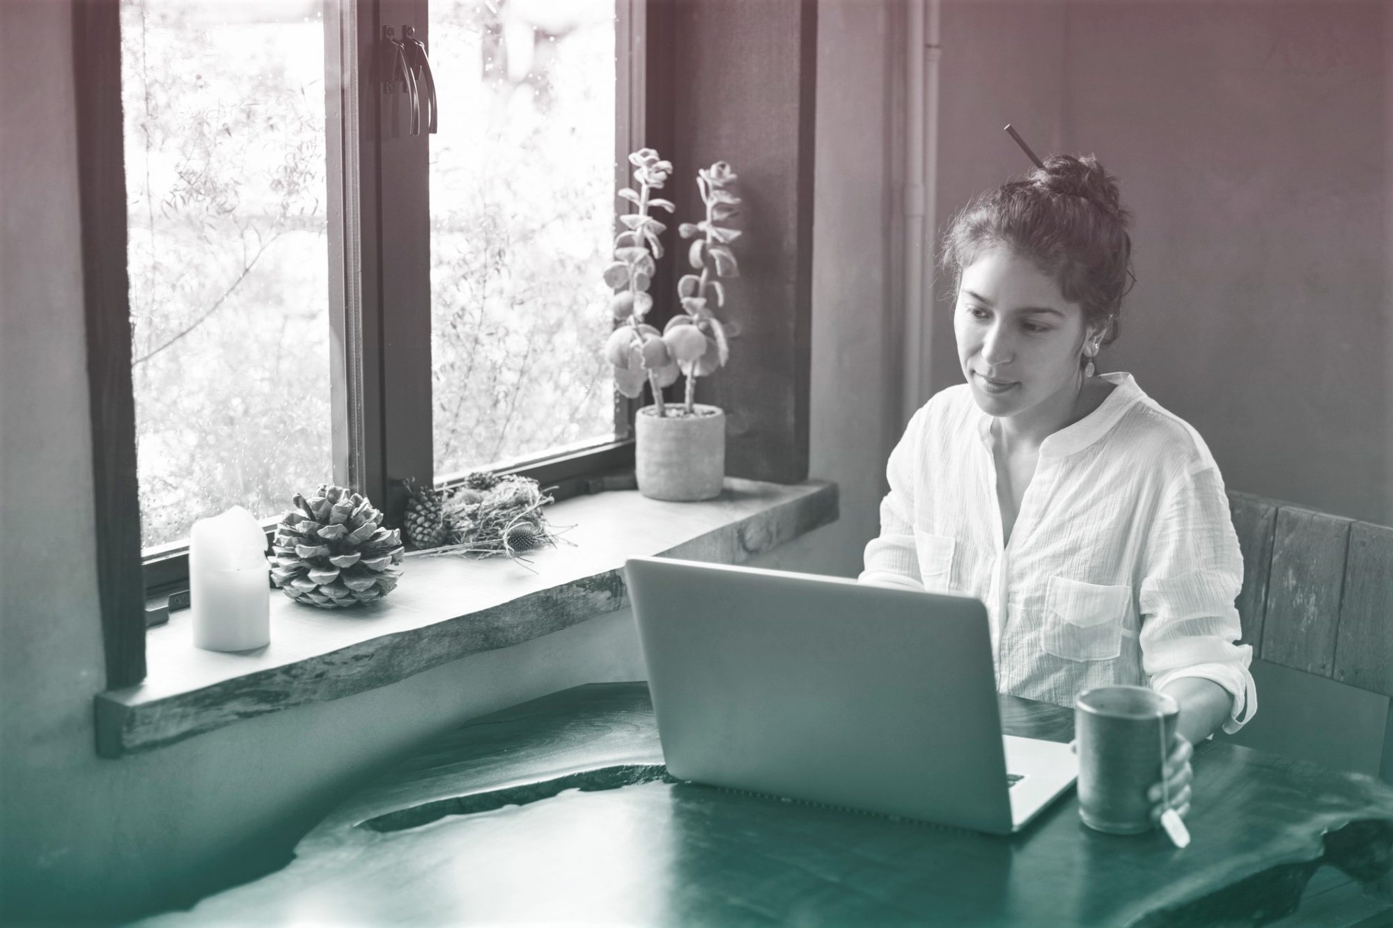
<path fill-rule="evenodd" d="M 123 0 L 146 548 L 332 471 L 322 4 Z"/>

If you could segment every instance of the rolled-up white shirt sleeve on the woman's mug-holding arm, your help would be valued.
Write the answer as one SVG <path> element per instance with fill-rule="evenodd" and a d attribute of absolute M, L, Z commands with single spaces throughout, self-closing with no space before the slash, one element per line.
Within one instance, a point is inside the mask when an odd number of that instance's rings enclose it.
<path fill-rule="evenodd" d="M 1142 669 L 1153 690 L 1172 680 L 1213 680 L 1233 697 L 1223 730 L 1233 734 L 1258 711 L 1234 601 L 1243 553 L 1213 465 L 1177 479 L 1148 532 L 1141 564 Z"/>

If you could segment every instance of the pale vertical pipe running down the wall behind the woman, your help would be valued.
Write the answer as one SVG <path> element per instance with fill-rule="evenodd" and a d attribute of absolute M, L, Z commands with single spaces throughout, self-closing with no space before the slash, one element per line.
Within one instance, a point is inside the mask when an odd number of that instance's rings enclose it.
<path fill-rule="evenodd" d="M 940 0 L 910 0 L 905 67 L 904 183 L 904 383 L 901 418 L 908 421 L 928 399 L 926 359 L 933 329 L 933 216 L 939 128 Z M 929 234 L 925 235 L 928 224 Z"/>

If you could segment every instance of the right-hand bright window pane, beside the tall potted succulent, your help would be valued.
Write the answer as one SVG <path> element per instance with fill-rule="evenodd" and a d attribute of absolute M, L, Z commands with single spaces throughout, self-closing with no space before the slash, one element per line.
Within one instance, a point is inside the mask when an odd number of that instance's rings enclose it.
<path fill-rule="evenodd" d="M 437 478 L 614 435 L 614 0 L 432 0 Z"/>

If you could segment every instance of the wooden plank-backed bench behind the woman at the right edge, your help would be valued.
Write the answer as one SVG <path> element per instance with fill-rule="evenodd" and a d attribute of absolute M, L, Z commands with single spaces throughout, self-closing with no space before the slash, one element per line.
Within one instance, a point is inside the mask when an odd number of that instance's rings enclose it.
<path fill-rule="evenodd" d="M 1393 783 L 1393 528 L 1229 493 L 1258 713 L 1236 744 Z"/>

